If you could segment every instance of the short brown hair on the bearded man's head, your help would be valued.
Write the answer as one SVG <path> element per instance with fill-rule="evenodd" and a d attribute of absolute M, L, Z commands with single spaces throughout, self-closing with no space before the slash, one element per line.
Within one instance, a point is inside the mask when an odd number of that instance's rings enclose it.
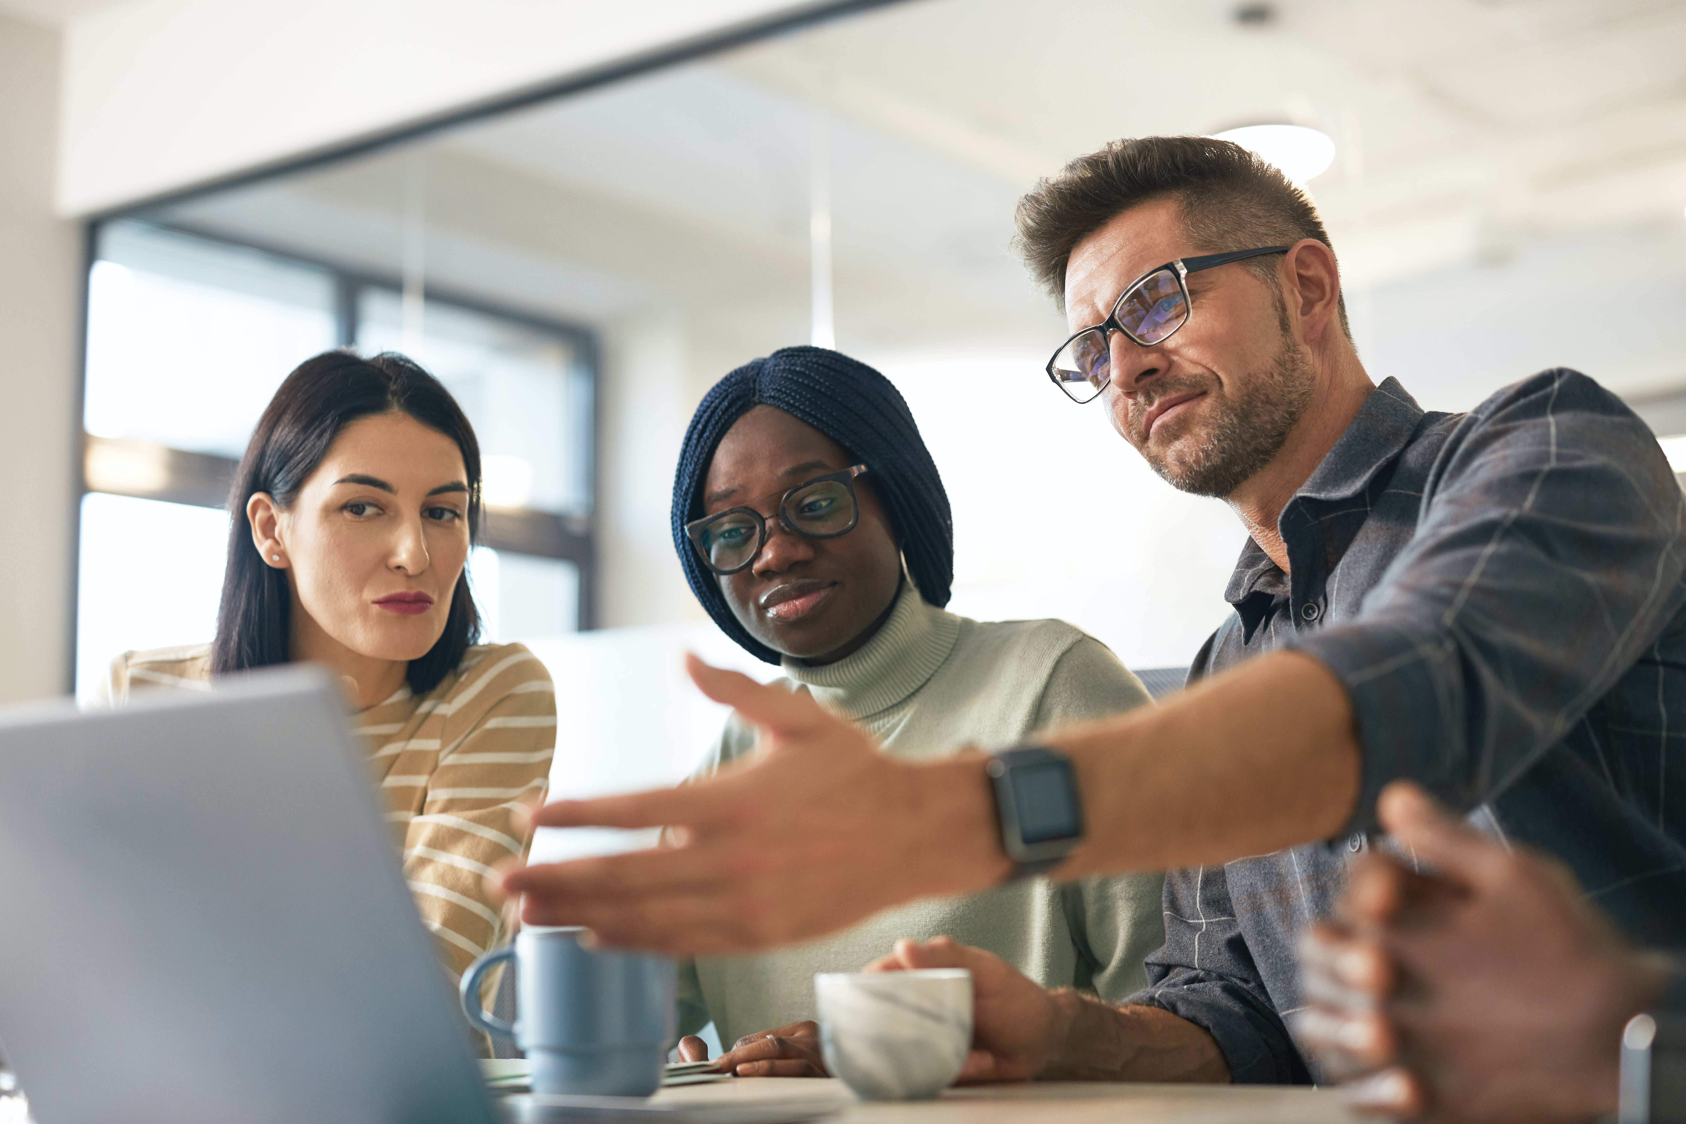
<path fill-rule="evenodd" d="M 1184 233 L 1205 253 L 1286 246 L 1302 238 L 1315 238 L 1329 253 L 1335 251 L 1303 190 L 1241 145 L 1212 136 L 1114 140 L 1077 157 L 1018 201 L 1015 244 L 1064 312 L 1066 265 L 1077 243 L 1125 211 L 1167 197 L 1180 204 Z M 1241 265 L 1280 297 L 1276 258 Z M 1340 330 L 1352 339 L 1345 295 Z"/>

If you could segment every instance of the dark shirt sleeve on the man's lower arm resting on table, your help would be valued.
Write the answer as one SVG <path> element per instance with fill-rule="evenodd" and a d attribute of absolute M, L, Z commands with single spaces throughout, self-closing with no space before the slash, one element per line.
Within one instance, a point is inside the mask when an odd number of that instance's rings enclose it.
<path fill-rule="evenodd" d="M 1146 991 L 1126 1003 L 1162 1008 L 1204 1028 L 1232 1082 L 1310 1084 L 1248 950 L 1222 866 L 1165 875 L 1165 947 L 1148 957 L 1146 971 Z"/>

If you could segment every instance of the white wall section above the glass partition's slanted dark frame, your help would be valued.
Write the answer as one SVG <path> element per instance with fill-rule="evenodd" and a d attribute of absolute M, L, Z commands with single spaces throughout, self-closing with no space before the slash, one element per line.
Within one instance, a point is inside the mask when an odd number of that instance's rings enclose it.
<path fill-rule="evenodd" d="M 57 202 L 88 214 L 659 51 L 791 0 L 130 0 L 66 25 Z"/>

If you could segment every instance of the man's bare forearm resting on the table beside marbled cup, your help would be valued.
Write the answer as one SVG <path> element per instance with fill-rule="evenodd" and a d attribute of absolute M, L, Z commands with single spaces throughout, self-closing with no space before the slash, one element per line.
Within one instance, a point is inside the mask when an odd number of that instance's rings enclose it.
<path fill-rule="evenodd" d="M 1055 1045 L 1037 1080 L 1227 1082 L 1229 1065 L 1202 1026 L 1150 1006 L 1114 1008 L 1060 988 Z"/>

